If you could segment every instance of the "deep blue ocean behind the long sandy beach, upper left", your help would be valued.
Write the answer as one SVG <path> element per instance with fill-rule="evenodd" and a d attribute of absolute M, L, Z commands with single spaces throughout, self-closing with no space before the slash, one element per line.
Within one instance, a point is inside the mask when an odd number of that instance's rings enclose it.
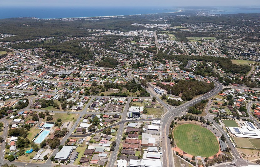
<path fill-rule="evenodd" d="M 120 16 L 134 14 L 154 14 L 178 12 L 179 10 L 156 8 L 3 8 L 0 18 L 36 17 L 36 18 L 79 18 L 98 16 Z"/>

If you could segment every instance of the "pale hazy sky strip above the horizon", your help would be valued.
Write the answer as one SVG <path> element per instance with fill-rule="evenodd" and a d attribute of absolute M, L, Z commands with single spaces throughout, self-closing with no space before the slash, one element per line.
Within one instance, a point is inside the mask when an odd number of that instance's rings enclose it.
<path fill-rule="evenodd" d="M 260 0 L 0 0 L 2 7 L 52 6 L 52 7 L 88 7 L 88 6 L 260 6 Z"/>

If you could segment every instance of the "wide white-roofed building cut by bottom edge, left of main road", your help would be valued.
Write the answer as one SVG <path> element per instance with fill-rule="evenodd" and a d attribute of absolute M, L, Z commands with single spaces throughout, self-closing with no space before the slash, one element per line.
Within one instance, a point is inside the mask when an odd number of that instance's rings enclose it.
<path fill-rule="evenodd" d="M 130 159 L 129 167 L 162 167 L 161 161 L 156 160 L 147 160 L 147 159 L 141 159 L 141 160 L 135 160 Z"/>

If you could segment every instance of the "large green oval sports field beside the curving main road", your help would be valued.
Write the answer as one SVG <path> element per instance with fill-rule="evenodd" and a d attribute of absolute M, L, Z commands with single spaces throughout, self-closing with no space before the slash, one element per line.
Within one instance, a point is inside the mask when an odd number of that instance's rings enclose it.
<path fill-rule="evenodd" d="M 219 151 L 219 143 L 215 135 L 200 125 L 182 124 L 174 128 L 174 141 L 185 153 L 210 157 Z"/>

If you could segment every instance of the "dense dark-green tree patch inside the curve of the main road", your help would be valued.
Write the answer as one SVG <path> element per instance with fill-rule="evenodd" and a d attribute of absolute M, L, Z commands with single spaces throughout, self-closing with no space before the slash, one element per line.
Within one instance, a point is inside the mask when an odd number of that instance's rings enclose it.
<path fill-rule="evenodd" d="M 214 89 L 214 83 L 205 83 L 196 80 L 176 80 L 174 86 L 169 84 L 156 83 L 157 86 L 165 89 L 168 94 L 180 96 L 183 101 L 189 101 L 197 95 L 202 95 Z"/>

